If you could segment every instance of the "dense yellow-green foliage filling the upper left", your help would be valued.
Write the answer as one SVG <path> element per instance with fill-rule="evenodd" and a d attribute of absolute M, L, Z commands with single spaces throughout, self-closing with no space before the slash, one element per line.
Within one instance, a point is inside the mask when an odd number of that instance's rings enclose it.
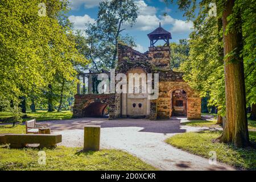
<path fill-rule="evenodd" d="M 39 16 L 39 3 L 46 4 L 46 16 Z M 0 100 L 12 101 L 16 115 L 20 97 L 40 98 L 56 75 L 75 81 L 74 65 L 87 63 L 69 38 L 67 5 L 66 0 L 0 2 Z"/>

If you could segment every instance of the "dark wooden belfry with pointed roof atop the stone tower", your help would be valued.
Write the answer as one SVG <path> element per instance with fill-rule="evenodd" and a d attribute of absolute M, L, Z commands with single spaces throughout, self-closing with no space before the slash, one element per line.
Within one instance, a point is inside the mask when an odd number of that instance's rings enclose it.
<path fill-rule="evenodd" d="M 150 39 L 150 47 L 154 47 L 154 44 L 158 42 L 158 40 L 164 40 L 166 45 L 169 46 L 169 40 L 172 39 L 171 33 L 164 30 L 164 28 L 161 27 L 161 23 L 159 23 L 158 28 L 147 34 L 147 36 Z"/>

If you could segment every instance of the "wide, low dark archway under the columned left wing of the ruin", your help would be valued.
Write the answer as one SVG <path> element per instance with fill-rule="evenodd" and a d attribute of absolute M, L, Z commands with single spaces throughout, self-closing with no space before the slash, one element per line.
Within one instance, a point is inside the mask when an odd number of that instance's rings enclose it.
<path fill-rule="evenodd" d="M 108 104 L 92 102 L 82 109 L 82 117 L 108 117 Z"/>

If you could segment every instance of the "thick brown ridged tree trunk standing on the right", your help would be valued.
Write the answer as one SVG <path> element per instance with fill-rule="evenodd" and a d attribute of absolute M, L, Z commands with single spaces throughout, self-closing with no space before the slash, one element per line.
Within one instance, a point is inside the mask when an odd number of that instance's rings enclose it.
<path fill-rule="evenodd" d="M 223 30 L 228 24 L 228 16 L 232 14 L 234 0 L 229 0 L 222 14 Z M 240 17 L 237 17 L 241 20 Z M 237 24 L 239 26 L 239 23 Z M 224 34 L 224 55 L 235 51 L 236 54 L 224 60 L 226 123 L 220 142 L 232 143 L 236 147 L 249 146 L 249 133 L 246 117 L 245 76 L 243 59 L 239 56 L 242 49 L 242 34 L 237 30 Z"/>

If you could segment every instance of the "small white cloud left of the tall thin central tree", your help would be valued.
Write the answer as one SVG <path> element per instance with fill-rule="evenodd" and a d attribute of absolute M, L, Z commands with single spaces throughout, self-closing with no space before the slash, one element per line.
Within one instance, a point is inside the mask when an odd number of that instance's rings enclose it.
<path fill-rule="evenodd" d="M 86 14 L 84 16 L 71 15 L 68 17 L 68 19 L 74 24 L 74 28 L 76 30 L 83 30 L 85 28 L 85 23 L 95 22 L 93 18 L 90 18 L 90 16 Z"/>

